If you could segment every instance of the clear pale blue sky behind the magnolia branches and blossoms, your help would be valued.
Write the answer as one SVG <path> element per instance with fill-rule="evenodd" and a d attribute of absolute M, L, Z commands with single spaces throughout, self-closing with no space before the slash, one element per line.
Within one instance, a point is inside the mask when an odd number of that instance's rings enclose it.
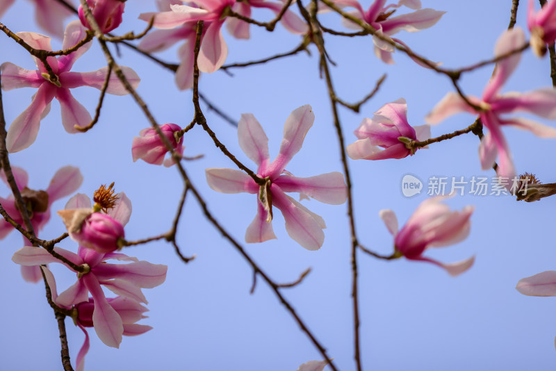
<path fill-rule="evenodd" d="M 369 3 L 363 3 L 363 8 Z M 447 13 L 430 29 L 397 36 L 445 67 L 471 65 L 493 56 L 494 43 L 509 23 L 511 6 L 510 0 L 423 0 L 423 8 Z M 526 26 L 526 6 L 526 1 L 521 1 L 518 26 Z M 154 1 L 128 1 L 124 23 L 118 31 L 142 30 L 145 22 L 137 19 L 138 14 L 154 10 Z M 265 10 L 254 13 L 257 19 L 271 16 Z M 0 21 L 13 31 L 43 32 L 33 22 L 33 8 L 28 1 L 16 1 Z M 332 13 L 323 15 L 322 22 L 345 30 Z M 299 36 L 280 25 L 274 33 L 254 26 L 251 32 L 250 40 L 235 40 L 224 31 L 228 63 L 272 56 L 294 49 L 300 42 Z M 345 101 L 361 99 L 382 74 L 387 74 L 382 88 L 359 115 L 341 108 L 346 145 L 356 139 L 352 131 L 361 120 L 372 117 L 382 105 L 404 97 L 409 123 L 420 125 L 432 107 L 452 90 L 445 76 L 419 67 L 401 53 L 395 53 L 395 65 L 384 65 L 375 58 L 370 37 L 325 38 L 329 55 L 336 63 L 333 79 Z M 54 49 L 61 47 L 60 40 L 53 40 L 52 44 Z M 0 63 L 10 61 L 33 69 L 31 57 L 13 40 L 1 36 L 0 50 Z M 199 84 L 203 94 L 231 117 L 254 114 L 268 135 L 271 157 L 279 149 L 286 117 L 295 108 L 311 104 L 315 124 L 302 150 L 287 167 L 296 176 L 341 171 L 331 108 L 318 71 L 318 51 L 314 46 L 309 50 L 311 56 L 300 53 L 266 65 L 230 70 L 233 76 L 221 71 L 203 74 Z M 176 51 L 174 47 L 158 56 L 176 63 Z M 141 77 L 138 92 L 158 122 L 182 127 L 189 124 L 193 119 L 191 92 L 177 91 L 170 72 L 134 51 L 121 47 L 120 54 L 118 63 L 133 67 Z M 92 71 L 104 65 L 104 57 L 95 44 L 74 65 L 74 70 Z M 464 92 L 480 95 L 492 68 L 489 65 L 466 74 L 461 79 Z M 503 91 L 525 92 L 550 84 L 548 58 L 539 59 L 526 51 Z M 30 88 L 3 92 L 8 123 L 24 110 L 34 92 Z M 74 94 L 90 112 L 95 109 L 97 90 L 79 88 Z M 254 168 L 238 146 L 236 129 L 208 109 L 205 115 L 224 145 Z M 468 114 L 455 115 L 433 126 L 432 135 L 464 129 L 474 119 Z M 147 126 L 131 97 L 107 96 L 99 124 L 88 133 L 70 135 L 60 124 L 59 104 L 55 101 L 51 113 L 42 120 L 36 142 L 10 156 L 10 160 L 27 170 L 33 189 L 45 189 L 54 172 L 65 165 L 79 166 L 85 179 L 79 192 L 88 195 L 100 184 L 115 181 L 117 191 L 126 192 L 133 203 L 126 238 L 146 238 L 170 228 L 182 188 L 174 168 L 132 162 L 131 140 Z M 545 183 L 556 181 L 553 140 L 516 129 L 504 132 L 518 173 L 534 173 Z M 402 195 L 400 183 L 405 174 L 417 176 L 425 186 L 431 176 L 450 180 L 452 176 L 468 180 L 473 176 L 493 176 L 492 171 L 480 168 L 478 144 L 477 137 L 468 134 L 431 145 L 402 160 L 350 160 L 357 229 L 363 245 L 390 254 L 393 241 L 378 216 L 379 210 L 391 208 L 401 226 L 427 197 L 425 192 L 411 198 Z M 186 156 L 204 155 L 200 160 L 184 163 L 195 186 L 222 225 L 243 242 L 245 229 L 255 213 L 254 196 L 224 195 L 208 188 L 204 170 L 233 167 L 233 163 L 215 149 L 201 128 L 187 133 L 185 145 Z M 1 195 L 8 195 L 8 188 L 0 189 Z M 53 212 L 63 208 L 65 201 L 56 202 Z M 471 235 L 455 246 L 429 253 L 444 262 L 476 255 L 475 265 L 460 277 L 452 278 L 427 263 L 377 261 L 358 254 L 364 369 L 553 370 L 556 302 L 526 297 L 515 286 L 523 277 L 556 269 L 556 198 L 527 204 L 510 196 L 467 194 L 447 203 L 458 209 L 475 206 Z M 338 368 L 354 370 L 347 208 L 315 200 L 304 204 L 327 222 L 325 243 L 318 252 L 306 251 L 291 240 L 278 212 L 273 222 L 277 240 L 245 248 L 280 282 L 293 281 L 307 267 L 312 268 L 300 286 L 284 290 L 284 295 L 334 357 Z M 54 238 L 63 231 L 63 223 L 53 213 L 40 237 Z M 181 263 L 172 246 L 165 242 L 124 250 L 140 260 L 169 266 L 166 282 L 145 290 L 150 312 L 141 323 L 154 329 L 142 336 L 124 338 L 120 349 L 106 347 L 90 329 L 86 370 L 293 371 L 301 363 L 321 358 L 263 281 L 258 281 L 250 295 L 252 270 L 208 224 L 193 198 L 186 201 L 178 233 L 183 253 L 197 255 L 188 265 Z M 25 283 L 19 266 L 11 261 L 13 253 L 22 247 L 22 238 L 11 233 L 0 246 L 0 317 L 4 318 L 0 369 L 60 370 L 58 330 L 44 297 L 44 285 Z M 77 248 L 70 239 L 60 246 L 72 251 Z M 64 267 L 54 265 L 53 271 L 59 291 L 74 282 L 74 274 Z M 66 326 L 74 361 L 83 333 L 71 320 L 66 321 Z"/>

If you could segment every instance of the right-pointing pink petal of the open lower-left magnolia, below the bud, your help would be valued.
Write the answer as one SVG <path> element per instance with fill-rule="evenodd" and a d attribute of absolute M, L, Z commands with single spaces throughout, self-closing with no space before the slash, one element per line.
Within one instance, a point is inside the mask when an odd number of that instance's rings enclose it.
<path fill-rule="evenodd" d="M 130 264 L 99 264 L 95 267 L 95 275 L 99 280 L 122 279 L 141 288 L 154 288 L 166 279 L 168 267 L 162 264 L 152 264 L 138 261 Z"/>

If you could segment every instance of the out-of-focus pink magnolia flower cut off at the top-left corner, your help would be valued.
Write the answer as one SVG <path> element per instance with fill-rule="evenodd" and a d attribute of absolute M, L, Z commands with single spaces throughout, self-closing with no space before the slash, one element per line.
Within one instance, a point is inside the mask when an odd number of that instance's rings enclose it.
<path fill-rule="evenodd" d="M 64 19 L 73 13 L 60 1 L 56 0 L 32 0 L 35 3 L 35 19 L 37 24 L 49 35 L 62 38 L 64 35 Z M 67 0 L 72 4 L 73 1 Z M 0 0 L 0 17 L 14 3 L 14 0 Z"/>

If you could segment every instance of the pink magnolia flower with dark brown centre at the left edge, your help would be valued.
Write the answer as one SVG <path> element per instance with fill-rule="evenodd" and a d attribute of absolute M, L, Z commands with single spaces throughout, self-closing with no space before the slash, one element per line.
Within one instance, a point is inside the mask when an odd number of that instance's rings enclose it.
<path fill-rule="evenodd" d="M 19 167 L 12 167 L 12 173 L 17 183 L 17 188 L 22 192 L 23 200 L 27 206 L 27 212 L 31 218 L 31 224 L 35 233 L 44 228 L 44 225 L 50 220 L 50 206 L 52 203 L 62 197 L 71 195 L 81 186 L 83 176 L 77 167 L 66 166 L 54 174 L 47 190 L 31 190 L 28 186 L 28 175 L 25 170 Z M 2 171 L 0 178 L 4 183 L 8 184 L 6 174 Z M 0 197 L 0 204 L 6 210 L 8 215 L 13 218 L 18 224 L 24 225 L 23 217 L 15 206 L 15 199 L 12 196 L 8 198 Z M 1 218 L 0 220 L 0 239 L 8 236 L 8 233 L 13 231 L 12 224 L 6 222 Z M 24 245 L 31 245 L 25 237 L 23 238 Z M 42 279 L 38 267 L 24 267 L 22 266 L 22 277 L 27 282 L 38 282 Z"/>

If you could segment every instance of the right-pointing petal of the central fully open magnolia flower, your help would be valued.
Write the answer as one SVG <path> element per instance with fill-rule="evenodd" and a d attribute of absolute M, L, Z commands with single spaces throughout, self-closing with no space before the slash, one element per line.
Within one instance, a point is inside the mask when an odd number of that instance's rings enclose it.
<path fill-rule="evenodd" d="M 300 192 L 325 204 L 340 205 L 347 199 L 347 186 L 341 172 L 329 172 L 308 178 L 283 174 L 275 184 L 284 192 Z"/>

